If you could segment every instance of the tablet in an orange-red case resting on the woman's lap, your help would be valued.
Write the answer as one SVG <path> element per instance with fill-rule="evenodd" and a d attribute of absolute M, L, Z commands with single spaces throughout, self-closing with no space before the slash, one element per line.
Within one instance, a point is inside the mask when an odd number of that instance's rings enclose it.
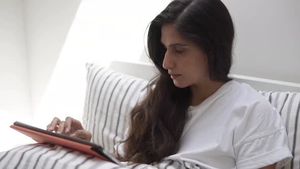
<path fill-rule="evenodd" d="M 106 152 L 101 146 L 87 142 L 86 140 L 71 137 L 64 134 L 50 132 L 48 130 L 40 129 L 18 121 L 14 122 L 14 124 L 10 127 L 29 137 L 32 137 L 38 143 L 49 143 L 53 145 L 68 147 L 71 149 L 85 152 L 87 154 L 95 155 L 103 160 L 124 166 L 110 153 Z"/>

